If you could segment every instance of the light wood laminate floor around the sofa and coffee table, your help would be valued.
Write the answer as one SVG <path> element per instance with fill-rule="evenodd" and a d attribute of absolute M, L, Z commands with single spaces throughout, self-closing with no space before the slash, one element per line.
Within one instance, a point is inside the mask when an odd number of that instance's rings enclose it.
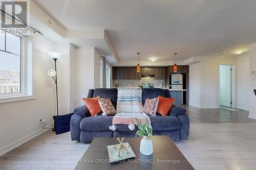
<path fill-rule="evenodd" d="M 255 170 L 255 131 L 255 123 L 191 123 L 189 140 L 175 143 L 195 169 Z M 47 131 L 0 157 L 0 169 L 73 169 L 88 147 Z"/>

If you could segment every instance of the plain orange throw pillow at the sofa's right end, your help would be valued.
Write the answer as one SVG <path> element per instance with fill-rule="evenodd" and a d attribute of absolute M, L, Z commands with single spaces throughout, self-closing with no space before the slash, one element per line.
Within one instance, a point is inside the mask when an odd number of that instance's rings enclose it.
<path fill-rule="evenodd" d="M 158 96 L 158 107 L 157 113 L 161 114 L 162 116 L 166 116 L 170 108 L 173 106 L 175 99 L 174 98 L 164 98 L 162 96 Z"/>

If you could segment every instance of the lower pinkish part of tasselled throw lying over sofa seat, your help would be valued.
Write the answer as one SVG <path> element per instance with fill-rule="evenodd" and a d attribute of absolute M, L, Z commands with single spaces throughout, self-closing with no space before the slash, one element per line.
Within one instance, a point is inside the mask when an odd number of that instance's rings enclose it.
<path fill-rule="evenodd" d="M 135 125 L 137 125 L 136 118 L 138 120 L 141 120 L 141 124 L 145 125 L 146 119 L 148 120 L 148 123 L 151 126 L 151 121 L 150 117 L 146 115 L 146 113 L 117 113 L 113 119 L 112 119 L 112 126 L 110 126 L 110 130 L 114 131 L 116 130 L 117 124 L 123 124 L 123 125 L 128 125 L 128 128 L 130 130 L 135 129 Z"/>

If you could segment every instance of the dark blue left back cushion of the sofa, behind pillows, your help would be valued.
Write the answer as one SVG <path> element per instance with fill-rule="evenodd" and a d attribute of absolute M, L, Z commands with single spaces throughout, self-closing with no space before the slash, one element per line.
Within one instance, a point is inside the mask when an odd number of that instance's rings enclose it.
<path fill-rule="evenodd" d="M 116 109 L 117 89 L 116 88 L 96 88 L 93 97 L 100 96 L 100 98 L 110 99 L 111 103 Z"/>

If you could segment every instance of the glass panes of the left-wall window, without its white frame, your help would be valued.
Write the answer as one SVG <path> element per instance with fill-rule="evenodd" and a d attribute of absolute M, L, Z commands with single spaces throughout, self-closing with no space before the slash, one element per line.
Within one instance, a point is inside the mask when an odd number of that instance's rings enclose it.
<path fill-rule="evenodd" d="M 22 92 L 22 38 L 0 30 L 0 94 Z"/>

